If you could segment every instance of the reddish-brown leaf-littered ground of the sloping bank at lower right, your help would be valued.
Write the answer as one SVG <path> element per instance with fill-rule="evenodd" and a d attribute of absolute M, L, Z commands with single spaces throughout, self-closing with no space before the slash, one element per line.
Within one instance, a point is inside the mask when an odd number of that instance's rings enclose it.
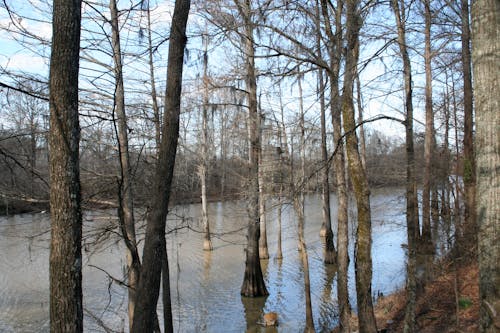
<path fill-rule="evenodd" d="M 455 267 L 443 264 L 441 272 L 417 297 L 416 331 L 419 333 L 477 332 L 479 322 L 479 272 L 477 263 Z M 405 291 L 376 301 L 379 332 L 402 332 Z M 357 318 L 351 322 L 357 330 Z M 333 331 L 335 332 L 335 330 Z"/>

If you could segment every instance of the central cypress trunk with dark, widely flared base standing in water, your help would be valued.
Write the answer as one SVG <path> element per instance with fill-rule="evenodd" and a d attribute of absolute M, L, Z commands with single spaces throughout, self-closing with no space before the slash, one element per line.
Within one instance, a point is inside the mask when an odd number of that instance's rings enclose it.
<path fill-rule="evenodd" d="M 268 295 L 259 259 L 260 217 L 259 217 L 259 112 L 257 108 L 257 82 L 255 78 L 255 59 L 253 44 L 253 22 L 251 20 L 250 0 L 241 3 L 235 0 L 245 25 L 244 50 L 246 60 L 246 89 L 249 110 L 250 141 L 250 186 L 248 200 L 248 236 L 246 248 L 245 275 L 241 295 L 258 297 Z"/>

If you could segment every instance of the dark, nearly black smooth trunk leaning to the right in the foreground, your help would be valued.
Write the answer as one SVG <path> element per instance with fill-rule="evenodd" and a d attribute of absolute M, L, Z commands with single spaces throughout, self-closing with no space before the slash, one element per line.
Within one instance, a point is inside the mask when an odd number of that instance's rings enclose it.
<path fill-rule="evenodd" d="M 170 188 L 175 165 L 177 141 L 179 138 L 179 116 L 182 88 L 182 67 L 186 46 L 186 23 L 189 15 L 189 0 L 176 0 L 170 45 L 168 50 L 167 87 L 165 93 L 165 113 L 151 212 L 147 217 L 144 241 L 143 265 L 137 289 L 136 307 L 132 332 L 152 332 L 158 302 L 162 267 L 168 264 L 165 247 L 165 224 L 170 199 Z M 164 262 L 162 264 L 162 262 Z M 168 274 L 164 270 L 164 274 Z M 165 289 L 169 286 L 165 286 Z M 168 292 L 164 290 L 164 293 Z M 171 309 L 171 300 L 165 297 L 166 308 Z M 171 321 L 172 316 L 164 318 Z M 171 323 L 165 325 L 171 326 Z"/>

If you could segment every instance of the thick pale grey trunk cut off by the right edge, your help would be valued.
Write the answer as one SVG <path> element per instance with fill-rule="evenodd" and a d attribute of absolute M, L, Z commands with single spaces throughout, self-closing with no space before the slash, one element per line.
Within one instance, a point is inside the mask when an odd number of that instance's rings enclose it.
<path fill-rule="evenodd" d="M 472 5 L 480 330 L 500 329 L 500 2 Z"/>

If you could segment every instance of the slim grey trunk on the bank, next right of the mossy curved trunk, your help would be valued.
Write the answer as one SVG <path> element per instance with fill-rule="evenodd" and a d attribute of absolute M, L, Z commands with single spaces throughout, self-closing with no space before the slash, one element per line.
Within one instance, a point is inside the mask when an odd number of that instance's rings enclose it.
<path fill-rule="evenodd" d="M 418 207 L 415 180 L 415 152 L 413 145 L 413 90 L 411 62 L 406 46 L 406 9 L 404 0 L 392 0 L 391 6 L 396 18 L 398 30 L 399 52 L 403 60 L 403 78 L 405 91 L 405 127 L 406 127 L 406 226 L 408 239 L 408 261 L 406 271 L 406 308 L 404 329 L 405 333 L 415 332 L 415 307 L 417 298 L 416 266 L 417 266 L 417 239 L 418 239 Z"/>

